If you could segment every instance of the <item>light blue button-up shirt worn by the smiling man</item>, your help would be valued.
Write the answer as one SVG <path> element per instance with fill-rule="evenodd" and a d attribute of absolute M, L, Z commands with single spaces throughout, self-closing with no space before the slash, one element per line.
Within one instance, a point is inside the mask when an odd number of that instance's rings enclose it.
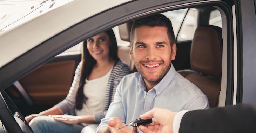
<path fill-rule="evenodd" d="M 96 132 L 106 126 L 111 117 L 119 117 L 123 123 L 129 124 L 156 107 L 173 112 L 209 108 L 207 97 L 193 83 L 177 73 L 173 65 L 156 86 L 148 92 L 145 89 L 139 72 L 124 76 L 116 88 L 114 102 L 110 104 L 106 117 L 101 119 Z"/>

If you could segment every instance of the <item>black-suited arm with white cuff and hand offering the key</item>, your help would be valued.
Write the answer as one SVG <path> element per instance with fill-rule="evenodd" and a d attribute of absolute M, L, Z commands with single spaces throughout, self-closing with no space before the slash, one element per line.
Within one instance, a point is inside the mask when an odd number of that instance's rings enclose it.
<path fill-rule="evenodd" d="M 156 119 L 139 126 L 144 133 L 256 133 L 256 104 L 178 113 L 154 108 L 140 117 Z"/>

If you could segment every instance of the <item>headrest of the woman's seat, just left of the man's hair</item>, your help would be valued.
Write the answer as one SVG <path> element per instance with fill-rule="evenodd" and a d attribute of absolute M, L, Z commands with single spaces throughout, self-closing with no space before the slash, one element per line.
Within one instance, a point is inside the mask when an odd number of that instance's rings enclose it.
<path fill-rule="evenodd" d="M 118 26 L 121 40 L 130 42 L 131 26 L 132 22 L 127 22 Z"/>

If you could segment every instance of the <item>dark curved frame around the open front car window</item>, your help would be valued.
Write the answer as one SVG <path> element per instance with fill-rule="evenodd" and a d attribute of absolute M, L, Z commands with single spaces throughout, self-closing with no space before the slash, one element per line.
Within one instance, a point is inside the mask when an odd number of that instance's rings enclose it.
<path fill-rule="evenodd" d="M 161 13 L 164 11 L 177 10 L 182 8 L 191 8 L 195 6 L 217 6 L 225 11 L 227 17 L 227 77 L 226 81 L 226 101 L 225 105 L 232 105 L 233 102 L 233 83 L 234 83 L 234 51 L 233 51 L 233 29 L 231 22 L 231 11 L 229 6 L 222 1 L 196 1 L 187 3 L 187 1 L 163 1 L 160 3 L 155 2 L 154 0 L 147 1 L 147 6 L 144 3 L 146 0 L 141 1 L 132 1 L 120 6 L 117 6 L 113 9 L 109 9 L 89 17 L 82 22 L 71 26 L 70 28 L 62 31 L 61 33 L 56 34 L 54 37 L 49 38 L 48 40 L 42 42 L 40 45 L 29 50 L 25 54 L 19 56 L 12 62 L 9 62 L 4 67 L 0 68 L 0 75 L 5 75 L 0 77 L 0 90 L 5 89 L 11 85 L 14 81 L 20 79 L 21 77 L 27 75 L 29 72 L 38 68 L 43 63 L 46 63 L 51 58 L 54 58 L 56 55 L 67 50 L 68 48 L 78 44 L 79 42 L 95 36 L 98 33 L 101 33 L 107 29 L 113 28 L 117 25 L 126 23 L 128 21 L 145 17 L 148 15 Z M 149 4 L 151 3 L 151 5 Z M 139 6 L 140 5 L 140 6 Z M 145 6 L 145 7 L 141 7 Z M 123 10 L 126 9 L 126 10 Z M 119 14 L 113 15 L 113 13 Z M 113 16 L 109 18 L 109 16 Z M 101 22 L 96 22 L 96 20 L 101 20 Z M 108 21 L 103 21 L 104 19 Z M 104 23 L 102 23 L 104 22 Z M 88 28 L 84 29 L 85 25 Z M 72 38 L 70 38 L 72 36 Z M 56 43 L 58 42 L 58 43 Z M 37 56 L 34 56 L 37 55 Z M 40 56 L 39 56 L 40 55 Z M 16 66 L 19 68 L 16 68 Z"/>

